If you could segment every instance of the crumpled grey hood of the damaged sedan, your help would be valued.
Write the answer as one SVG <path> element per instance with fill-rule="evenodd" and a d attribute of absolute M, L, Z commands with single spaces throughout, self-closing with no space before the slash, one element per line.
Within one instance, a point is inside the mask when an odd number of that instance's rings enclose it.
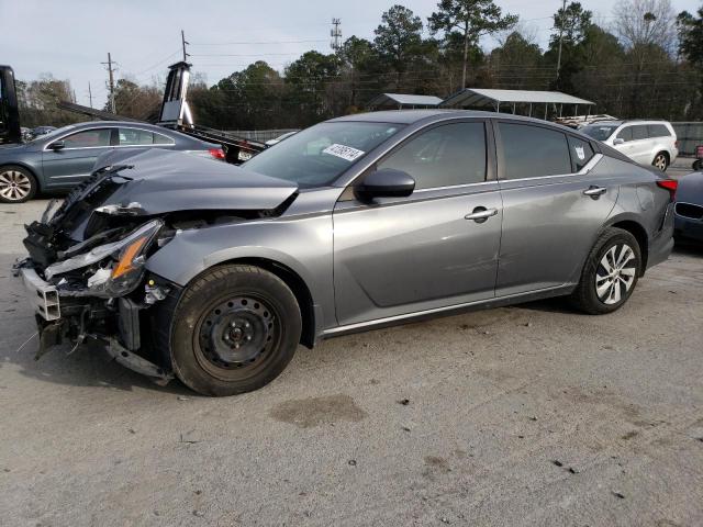
<path fill-rule="evenodd" d="M 114 179 L 129 179 L 103 204 L 126 206 L 136 202 L 148 215 L 189 210 L 272 210 L 298 191 L 295 183 L 180 152 L 155 148 L 120 164 L 133 168 L 120 170 Z"/>

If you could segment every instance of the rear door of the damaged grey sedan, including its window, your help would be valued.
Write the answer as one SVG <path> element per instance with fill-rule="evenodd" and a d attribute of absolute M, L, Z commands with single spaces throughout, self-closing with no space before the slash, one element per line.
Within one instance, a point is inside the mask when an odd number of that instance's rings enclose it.
<path fill-rule="evenodd" d="M 551 126 L 500 121 L 503 234 L 496 296 L 578 281 L 618 186 L 596 176 L 588 141 Z"/>

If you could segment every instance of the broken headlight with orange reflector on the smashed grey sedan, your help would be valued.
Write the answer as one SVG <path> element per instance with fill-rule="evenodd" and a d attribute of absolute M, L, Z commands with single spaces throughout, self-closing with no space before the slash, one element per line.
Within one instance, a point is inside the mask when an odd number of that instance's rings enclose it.
<path fill-rule="evenodd" d="M 44 274 L 51 280 L 57 274 L 96 267 L 94 272 L 88 277 L 87 289 L 80 293 L 97 296 L 124 295 L 142 279 L 146 262 L 145 253 L 163 226 L 164 222 L 153 220 L 119 242 L 101 245 L 82 255 L 48 266 Z"/>

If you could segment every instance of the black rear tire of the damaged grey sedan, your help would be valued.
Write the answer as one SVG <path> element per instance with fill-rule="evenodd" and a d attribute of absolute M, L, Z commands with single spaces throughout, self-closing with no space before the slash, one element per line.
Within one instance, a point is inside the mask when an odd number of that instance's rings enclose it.
<path fill-rule="evenodd" d="M 611 277 L 612 274 L 607 272 L 605 267 L 603 267 L 602 261 L 613 247 L 615 247 L 615 257 L 620 256 L 624 246 L 629 247 L 633 253 L 632 259 L 624 262 L 627 267 L 623 267 L 623 271 L 627 270 L 628 274 L 626 276 L 624 272 L 617 271 L 616 278 L 610 279 L 607 277 Z M 625 256 L 627 256 L 626 253 Z M 616 266 L 613 266 L 613 268 L 615 267 Z M 634 269 L 634 272 L 632 276 L 632 283 L 627 285 L 626 282 L 629 281 L 631 269 Z M 591 253 L 583 266 L 579 285 L 573 293 L 571 293 L 571 302 L 577 309 L 591 315 L 612 313 L 627 302 L 637 285 L 637 280 L 640 273 L 641 253 L 635 236 L 622 228 L 609 227 L 599 236 L 595 245 L 591 249 Z M 598 283 L 602 287 L 605 287 L 609 283 L 613 284 L 604 293 L 605 298 L 603 298 L 603 293 L 599 295 L 599 292 L 596 291 L 596 277 L 599 280 Z M 615 287 L 618 288 L 618 291 L 614 290 Z M 613 294 L 610 294 L 611 292 Z M 614 301 L 614 298 L 617 298 L 618 300 Z"/>

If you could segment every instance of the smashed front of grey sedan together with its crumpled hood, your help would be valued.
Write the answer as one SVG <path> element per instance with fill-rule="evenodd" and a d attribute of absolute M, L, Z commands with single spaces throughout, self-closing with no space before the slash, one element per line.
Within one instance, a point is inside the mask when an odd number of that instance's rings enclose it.
<path fill-rule="evenodd" d="M 168 328 L 157 327 L 154 306 L 176 302 L 181 288 L 146 271 L 148 258 L 183 231 L 280 215 L 297 187 L 271 183 L 261 192 L 237 167 L 178 153 L 129 161 L 96 170 L 63 203 L 52 200 L 25 226 L 29 258 L 14 273 L 36 307 L 37 358 L 55 345 L 69 343 L 72 351 L 98 341 L 123 366 L 165 383 L 172 378 L 168 350 L 155 349 L 150 336 Z"/>

